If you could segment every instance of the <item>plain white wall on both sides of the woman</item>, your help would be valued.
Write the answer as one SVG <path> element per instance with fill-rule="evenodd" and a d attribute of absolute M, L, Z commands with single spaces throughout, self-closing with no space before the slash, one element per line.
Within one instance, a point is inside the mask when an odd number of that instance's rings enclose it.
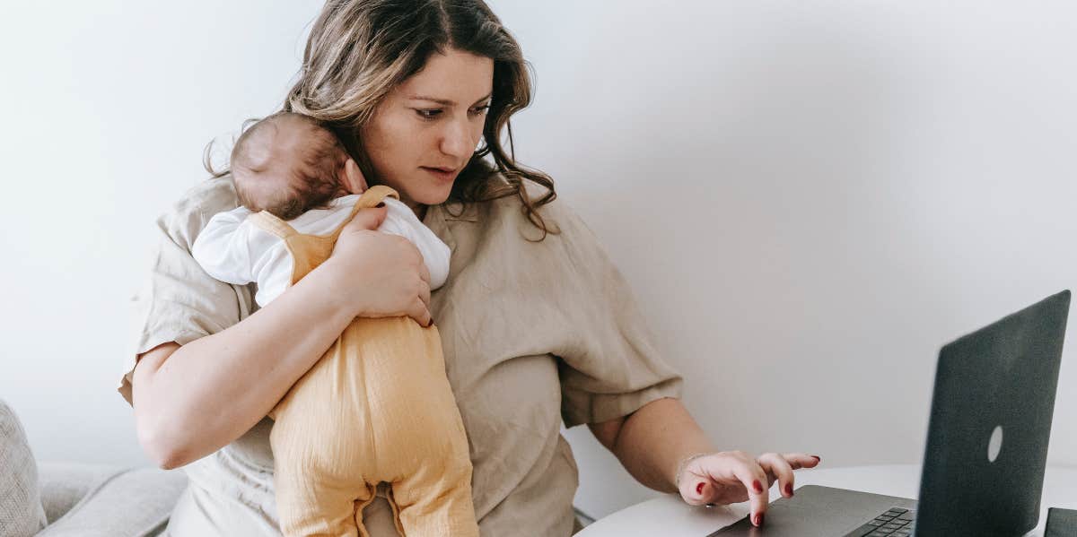
<path fill-rule="evenodd" d="M 152 220 L 279 102 L 319 3 L 8 8 L 0 397 L 40 457 L 145 461 L 113 388 Z M 536 71 L 518 157 L 723 447 L 919 462 L 938 348 L 1077 285 L 1071 3 L 492 5 Z M 1050 462 L 1077 466 L 1069 347 Z M 653 494 L 569 435 L 586 510 Z"/>

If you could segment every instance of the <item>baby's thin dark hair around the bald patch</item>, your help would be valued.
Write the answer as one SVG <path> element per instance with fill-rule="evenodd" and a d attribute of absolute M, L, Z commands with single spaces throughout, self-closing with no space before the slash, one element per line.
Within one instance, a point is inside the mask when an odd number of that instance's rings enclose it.
<path fill-rule="evenodd" d="M 280 129 L 289 122 L 299 122 L 307 128 L 306 143 L 299 149 L 299 164 L 284 170 L 283 184 L 260 183 L 258 174 L 269 166 L 265 159 L 252 159 L 251 145 L 269 129 Z M 232 149 L 230 170 L 214 170 L 206 149 L 205 165 L 214 178 L 232 173 L 239 203 L 258 212 L 267 211 L 282 220 L 292 220 L 311 210 L 324 208 L 339 192 L 338 173 L 348 159 L 340 140 L 325 125 L 304 114 L 277 112 L 263 119 L 243 122 L 241 133 Z"/>

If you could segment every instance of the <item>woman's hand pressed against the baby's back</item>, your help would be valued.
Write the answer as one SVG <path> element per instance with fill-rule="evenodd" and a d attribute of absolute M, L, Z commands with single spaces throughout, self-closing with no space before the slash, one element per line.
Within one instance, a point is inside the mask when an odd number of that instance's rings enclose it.
<path fill-rule="evenodd" d="M 388 211 L 384 206 L 360 210 L 340 230 L 323 266 L 335 274 L 341 301 L 354 316 L 407 315 L 430 326 L 430 272 L 415 244 L 376 231 Z"/>

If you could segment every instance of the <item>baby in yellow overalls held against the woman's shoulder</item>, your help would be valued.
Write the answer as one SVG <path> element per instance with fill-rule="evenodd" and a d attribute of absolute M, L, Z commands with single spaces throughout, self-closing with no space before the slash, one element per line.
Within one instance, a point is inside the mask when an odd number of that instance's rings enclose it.
<path fill-rule="evenodd" d="M 386 186 L 366 188 L 339 140 L 313 118 L 281 112 L 247 129 L 232 152 L 242 207 L 215 214 L 192 254 L 207 273 L 257 282 L 265 306 L 328 258 L 355 213 L 384 202 L 379 231 L 419 249 L 431 288 L 449 248 Z M 437 328 L 407 316 L 358 317 L 269 413 L 281 531 L 366 537 L 362 510 L 391 484 L 407 537 L 478 536 L 467 438 Z"/>

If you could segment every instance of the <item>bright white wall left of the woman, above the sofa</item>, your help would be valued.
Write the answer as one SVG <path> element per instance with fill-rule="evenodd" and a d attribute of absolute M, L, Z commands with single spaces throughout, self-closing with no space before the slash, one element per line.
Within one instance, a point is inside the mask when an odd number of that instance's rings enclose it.
<path fill-rule="evenodd" d="M 115 386 L 154 218 L 271 111 L 321 2 L 5 3 L 0 397 L 44 460 L 143 464 Z"/>

